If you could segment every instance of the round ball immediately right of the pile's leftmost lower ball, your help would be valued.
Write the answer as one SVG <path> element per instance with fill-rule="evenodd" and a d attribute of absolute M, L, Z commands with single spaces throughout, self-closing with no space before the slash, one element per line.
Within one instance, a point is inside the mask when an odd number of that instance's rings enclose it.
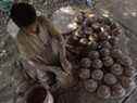
<path fill-rule="evenodd" d="M 91 77 L 95 80 L 101 80 L 103 78 L 103 72 L 101 69 L 95 69 L 91 72 Z"/>

